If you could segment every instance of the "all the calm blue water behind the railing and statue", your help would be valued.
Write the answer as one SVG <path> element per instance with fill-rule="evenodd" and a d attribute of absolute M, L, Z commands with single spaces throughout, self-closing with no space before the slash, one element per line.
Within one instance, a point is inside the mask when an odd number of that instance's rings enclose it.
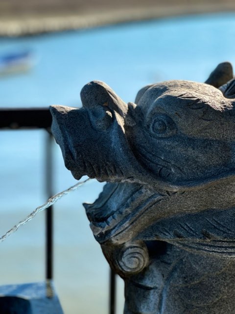
<path fill-rule="evenodd" d="M 33 52 L 33 68 L 0 78 L 0 107 L 80 106 L 93 79 L 126 102 L 151 82 L 204 81 L 222 61 L 235 65 L 235 13 L 163 19 L 94 30 L 0 39 L 0 55 Z M 0 234 L 46 201 L 44 131 L 0 131 Z M 54 192 L 75 183 L 54 144 Z M 82 202 L 93 202 L 95 181 L 55 207 L 55 286 L 66 314 L 106 314 L 108 265 Z M 0 284 L 44 279 L 44 214 L 0 244 Z M 118 283 L 118 313 L 123 291 Z"/>

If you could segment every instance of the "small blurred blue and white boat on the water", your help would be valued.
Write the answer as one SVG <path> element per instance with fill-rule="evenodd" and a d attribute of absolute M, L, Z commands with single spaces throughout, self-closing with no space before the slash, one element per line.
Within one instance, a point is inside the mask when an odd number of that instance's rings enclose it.
<path fill-rule="evenodd" d="M 33 66 L 30 51 L 12 52 L 0 56 L 0 76 L 28 71 Z"/>

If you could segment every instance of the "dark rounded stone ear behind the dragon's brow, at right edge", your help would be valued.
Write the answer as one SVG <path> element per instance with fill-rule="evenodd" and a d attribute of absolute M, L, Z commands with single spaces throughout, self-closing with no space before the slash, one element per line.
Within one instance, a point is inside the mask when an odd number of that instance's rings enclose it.
<path fill-rule="evenodd" d="M 232 78 L 234 78 L 232 64 L 230 62 L 222 62 L 211 72 L 205 83 L 219 88 Z"/>

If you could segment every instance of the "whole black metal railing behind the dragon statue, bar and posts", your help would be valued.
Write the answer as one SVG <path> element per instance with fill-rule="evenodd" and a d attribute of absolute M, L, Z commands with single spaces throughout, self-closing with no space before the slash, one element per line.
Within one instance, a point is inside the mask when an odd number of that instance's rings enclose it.
<path fill-rule="evenodd" d="M 52 196 L 52 141 L 50 128 L 52 117 L 49 108 L 1 108 L 0 130 L 44 129 L 47 131 L 45 144 L 46 169 L 45 186 L 47 197 Z M 53 279 L 53 207 L 46 211 L 46 279 Z M 116 313 L 116 275 L 110 270 L 109 314 Z"/>

